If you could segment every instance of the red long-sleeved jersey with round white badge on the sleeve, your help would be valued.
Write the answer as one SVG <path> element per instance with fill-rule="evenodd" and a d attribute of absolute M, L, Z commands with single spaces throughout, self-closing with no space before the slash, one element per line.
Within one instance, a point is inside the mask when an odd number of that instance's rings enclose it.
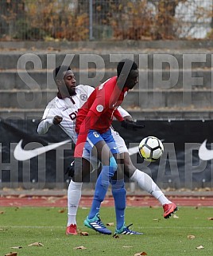
<path fill-rule="evenodd" d="M 119 121 L 123 120 L 117 108 L 122 104 L 127 91 L 127 88 L 122 90 L 118 88 L 117 77 L 111 77 L 91 93 L 87 102 L 79 109 L 76 118 L 76 132 L 79 134 L 75 150 L 76 157 L 82 155 L 83 145 L 90 129 L 99 133 L 107 132 L 113 116 Z M 82 146 L 78 147 L 79 144 Z"/>

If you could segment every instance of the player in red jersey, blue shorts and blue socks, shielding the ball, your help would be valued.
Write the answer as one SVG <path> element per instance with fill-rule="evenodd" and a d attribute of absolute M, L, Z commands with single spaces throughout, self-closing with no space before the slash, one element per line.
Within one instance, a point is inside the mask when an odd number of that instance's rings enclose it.
<path fill-rule="evenodd" d="M 81 157 L 83 150 L 94 152 L 96 149 L 99 160 L 102 163 L 102 171 L 97 179 L 95 195 L 91 205 L 91 211 L 85 219 L 84 224 L 100 233 L 105 233 L 106 227 L 99 219 L 100 205 L 105 198 L 109 184 L 114 187 L 114 197 L 125 197 L 122 162 L 118 157 L 118 147 L 110 131 L 110 125 L 115 116 L 122 122 L 125 128 L 139 128 L 140 125 L 128 122 L 118 112 L 118 106 L 122 104 L 125 94 L 137 84 L 138 69 L 134 61 L 128 59 L 120 61 L 117 67 L 117 77 L 111 77 L 102 85 L 99 85 L 87 102 L 79 109 L 76 119 L 76 132 L 78 140 L 75 149 L 75 181 L 80 182 L 82 177 Z M 114 172 L 117 171 L 116 177 Z M 79 180 L 78 180 L 79 179 Z M 119 193 L 116 193 L 119 191 Z M 116 207 L 117 229 L 115 233 L 121 234 L 133 232 L 124 223 L 123 200 Z"/>

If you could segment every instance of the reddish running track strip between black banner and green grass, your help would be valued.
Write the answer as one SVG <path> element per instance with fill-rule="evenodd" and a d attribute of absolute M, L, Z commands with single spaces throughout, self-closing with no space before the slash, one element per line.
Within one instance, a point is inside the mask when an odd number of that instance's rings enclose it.
<path fill-rule="evenodd" d="M 213 195 L 208 196 L 168 196 L 178 207 L 213 207 Z M 83 195 L 80 207 L 91 207 L 92 196 Z M 144 195 L 128 195 L 127 207 L 157 207 L 161 206 L 157 199 Z M 37 196 L 37 195 L 3 195 L 0 197 L 0 207 L 67 207 L 67 196 Z M 107 196 L 103 207 L 113 207 L 114 199 Z"/>

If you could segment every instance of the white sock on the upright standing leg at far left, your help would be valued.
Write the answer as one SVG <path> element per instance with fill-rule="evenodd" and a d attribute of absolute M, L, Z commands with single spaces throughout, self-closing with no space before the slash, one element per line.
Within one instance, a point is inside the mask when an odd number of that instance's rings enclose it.
<path fill-rule="evenodd" d="M 68 187 L 68 226 L 76 224 L 76 214 L 81 197 L 82 183 L 70 181 Z"/>

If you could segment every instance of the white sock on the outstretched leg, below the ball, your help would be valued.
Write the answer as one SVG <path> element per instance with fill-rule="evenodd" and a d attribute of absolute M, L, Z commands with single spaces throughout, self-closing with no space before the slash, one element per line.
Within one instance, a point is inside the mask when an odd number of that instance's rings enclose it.
<path fill-rule="evenodd" d="M 153 195 L 161 203 L 161 205 L 171 203 L 171 201 L 165 197 L 164 193 L 157 186 L 157 184 L 153 182 L 153 179 L 145 172 L 136 169 L 130 179 L 135 181 L 141 189 Z"/>

